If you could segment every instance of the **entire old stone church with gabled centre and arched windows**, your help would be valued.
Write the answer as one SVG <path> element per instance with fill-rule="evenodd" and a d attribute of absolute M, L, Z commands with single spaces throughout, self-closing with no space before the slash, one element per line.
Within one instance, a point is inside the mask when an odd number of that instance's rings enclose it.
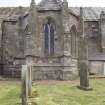
<path fill-rule="evenodd" d="M 105 8 L 69 7 L 67 0 L 32 0 L 30 7 L 0 7 L 0 75 L 73 80 L 80 62 L 105 75 Z"/>

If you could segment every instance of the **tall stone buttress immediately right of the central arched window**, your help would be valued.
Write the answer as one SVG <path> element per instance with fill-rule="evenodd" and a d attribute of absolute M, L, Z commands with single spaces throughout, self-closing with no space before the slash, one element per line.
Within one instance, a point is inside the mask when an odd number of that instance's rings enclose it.
<path fill-rule="evenodd" d="M 70 36 L 70 27 L 69 27 L 69 8 L 67 0 L 62 2 L 62 39 L 63 39 L 63 62 L 64 66 L 62 69 L 62 78 L 63 80 L 72 79 L 72 70 L 71 70 L 71 36 Z"/>

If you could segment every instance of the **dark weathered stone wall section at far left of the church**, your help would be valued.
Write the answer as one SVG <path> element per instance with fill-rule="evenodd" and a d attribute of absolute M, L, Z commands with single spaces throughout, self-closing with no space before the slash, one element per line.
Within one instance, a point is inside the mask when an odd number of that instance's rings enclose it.
<path fill-rule="evenodd" d="M 3 23 L 3 72 L 4 75 L 20 77 L 21 65 L 24 59 L 20 56 L 20 39 L 18 36 L 17 21 Z"/>

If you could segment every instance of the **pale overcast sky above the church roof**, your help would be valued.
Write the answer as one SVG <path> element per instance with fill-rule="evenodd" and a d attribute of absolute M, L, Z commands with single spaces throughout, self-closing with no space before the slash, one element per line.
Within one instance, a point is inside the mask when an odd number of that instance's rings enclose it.
<path fill-rule="evenodd" d="M 31 0 L 0 0 L 0 7 L 29 6 Z M 35 0 L 39 3 L 41 0 Z M 105 0 L 68 0 L 69 6 L 105 7 Z"/>

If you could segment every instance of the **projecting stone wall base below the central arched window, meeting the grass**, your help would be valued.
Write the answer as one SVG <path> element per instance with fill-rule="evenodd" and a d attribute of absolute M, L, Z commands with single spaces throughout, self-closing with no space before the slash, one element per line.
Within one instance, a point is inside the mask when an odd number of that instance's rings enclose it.
<path fill-rule="evenodd" d="M 34 66 L 33 80 L 74 80 L 78 77 L 77 69 L 72 66 Z"/>

